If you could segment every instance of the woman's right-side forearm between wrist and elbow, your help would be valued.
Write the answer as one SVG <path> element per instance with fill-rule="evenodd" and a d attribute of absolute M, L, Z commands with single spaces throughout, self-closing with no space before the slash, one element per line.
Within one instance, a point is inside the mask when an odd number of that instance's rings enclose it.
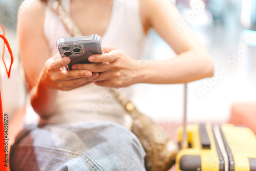
<path fill-rule="evenodd" d="M 140 83 L 186 83 L 214 75 L 210 55 L 189 50 L 168 60 L 144 61 L 137 77 Z"/>

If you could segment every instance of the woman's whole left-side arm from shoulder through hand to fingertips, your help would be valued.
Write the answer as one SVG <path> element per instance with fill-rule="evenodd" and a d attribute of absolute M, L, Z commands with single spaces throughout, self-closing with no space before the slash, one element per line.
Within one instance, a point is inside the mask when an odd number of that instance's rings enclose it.
<path fill-rule="evenodd" d="M 44 36 L 45 4 L 39 0 L 18 15 L 17 36 L 20 58 L 25 70 L 31 104 L 40 117 L 48 117 L 56 108 L 57 90 L 72 90 L 98 76 L 87 70 L 65 71 L 70 58 L 51 57 Z"/>

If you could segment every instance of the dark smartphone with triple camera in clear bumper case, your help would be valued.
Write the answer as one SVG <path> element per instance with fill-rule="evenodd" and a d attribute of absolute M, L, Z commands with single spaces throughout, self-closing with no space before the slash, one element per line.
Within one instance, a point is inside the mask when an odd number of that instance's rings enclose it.
<path fill-rule="evenodd" d="M 60 37 L 56 40 L 56 48 L 61 57 L 68 56 L 71 62 L 67 65 L 68 70 L 76 63 L 91 63 L 88 58 L 94 54 L 103 54 L 101 37 L 97 34 L 81 37 Z"/>

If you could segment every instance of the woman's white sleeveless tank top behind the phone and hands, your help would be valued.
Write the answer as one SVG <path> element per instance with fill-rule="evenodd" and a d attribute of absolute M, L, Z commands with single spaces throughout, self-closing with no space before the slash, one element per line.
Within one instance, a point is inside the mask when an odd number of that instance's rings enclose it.
<path fill-rule="evenodd" d="M 62 0 L 70 13 L 70 0 Z M 139 0 L 113 0 L 109 26 L 102 36 L 102 45 L 114 45 L 133 59 L 140 59 L 145 37 L 139 14 Z M 59 37 L 70 37 L 58 16 L 46 8 L 44 34 L 51 55 L 58 53 L 55 42 Z M 119 89 L 130 97 L 132 87 Z M 58 91 L 57 109 L 48 119 L 40 123 L 67 123 L 89 120 L 109 120 L 124 123 L 125 110 L 105 87 L 88 84 L 71 91 Z"/>

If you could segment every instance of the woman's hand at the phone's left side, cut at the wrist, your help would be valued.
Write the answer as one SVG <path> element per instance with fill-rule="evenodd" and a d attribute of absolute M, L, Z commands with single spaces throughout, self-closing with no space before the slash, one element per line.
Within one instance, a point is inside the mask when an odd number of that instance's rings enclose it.
<path fill-rule="evenodd" d="M 39 75 L 40 83 L 50 89 L 69 91 L 89 84 L 99 76 L 88 70 L 66 70 L 69 62 L 69 57 L 61 58 L 60 55 L 49 58 Z"/>

